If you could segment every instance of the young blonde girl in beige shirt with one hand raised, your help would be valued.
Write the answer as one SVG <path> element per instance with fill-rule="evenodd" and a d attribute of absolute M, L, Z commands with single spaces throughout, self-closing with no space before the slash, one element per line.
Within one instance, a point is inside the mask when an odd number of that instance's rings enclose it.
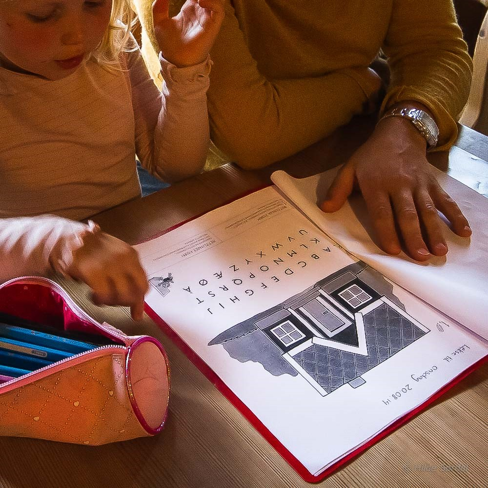
<path fill-rule="evenodd" d="M 142 318 L 136 252 L 75 220 L 201 171 L 208 51 L 222 0 L 153 4 L 163 93 L 130 36 L 130 0 L 0 0 L 0 281 L 55 270 Z"/>

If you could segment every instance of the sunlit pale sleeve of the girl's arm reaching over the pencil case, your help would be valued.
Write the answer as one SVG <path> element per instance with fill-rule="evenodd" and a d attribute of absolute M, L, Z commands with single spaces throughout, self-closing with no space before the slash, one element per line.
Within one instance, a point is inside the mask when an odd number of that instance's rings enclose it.
<path fill-rule="evenodd" d="M 0 219 L 0 282 L 22 275 L 64 272 L 83 237 L 98 230 L 54 215 Z"/>

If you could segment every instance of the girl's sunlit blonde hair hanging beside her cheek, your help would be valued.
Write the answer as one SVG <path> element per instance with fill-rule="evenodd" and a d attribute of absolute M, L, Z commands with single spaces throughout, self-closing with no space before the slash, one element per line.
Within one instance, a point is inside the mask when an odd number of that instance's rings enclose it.
<path fill-rule="evenodd" d="M 108 69 L 119 67 L 122 52 L 134 51 L 137 45 L 130 32 L 137 22 L 131 0 L 112 0 L 112 14 L 100 45 L 91 53 L 92 58 Z"/>

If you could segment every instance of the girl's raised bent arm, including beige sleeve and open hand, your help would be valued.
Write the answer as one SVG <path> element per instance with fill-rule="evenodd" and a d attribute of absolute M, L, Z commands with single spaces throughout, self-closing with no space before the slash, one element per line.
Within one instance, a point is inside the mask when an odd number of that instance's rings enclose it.
<path fill-rule="evenodd" d="M 154 86 L 139 52 L 129 56 L 136 153 L 142 165 L 165 181 L 199 173 L 209 143 L 206 91 L 208 50 L 224 16 L 221 0 L 188 0 L 175 18 L 168 1 L 153 6 L 162 53 L 163 93 Z"/>

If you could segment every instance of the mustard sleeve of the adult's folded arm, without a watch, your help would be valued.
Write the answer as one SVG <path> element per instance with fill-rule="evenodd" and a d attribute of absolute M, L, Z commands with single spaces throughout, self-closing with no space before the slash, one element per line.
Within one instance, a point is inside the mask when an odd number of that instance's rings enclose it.
<path fill-rule="evenodd" d="M 229 1 L 210 54 L 211 138 L 246 169 L 263 167 L 324 138 L 362 112 L 380 87 L 379 78 L 367 67 L 314 77 L 266 78 L 249 52 Z M 286 55 L 280 56 L 286 62 Z"/>

